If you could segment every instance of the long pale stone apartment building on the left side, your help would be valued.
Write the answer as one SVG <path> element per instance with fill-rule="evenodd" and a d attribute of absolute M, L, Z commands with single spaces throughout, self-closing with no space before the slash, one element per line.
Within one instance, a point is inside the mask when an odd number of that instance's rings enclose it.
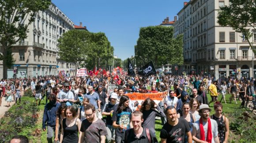
<path fill-rule="evenodd" d="M 13 45 L 15 64 L 8 69 L 8 78 L 13 77 L 14 69 L 19 70 L 17 77 L 57 75 L 60 70 L 75 75 L 74 63 L 58 60 L 57 47 L 57 40 L 64 32 L 74 29 L 74 23 L 53 3 L 49 9 L 38 11 L 34 19 L 28 27 L 27 38 Z M 0 70 L 3 70 L 2 63 Z M 0 73 L 2 77 L 3 72 Z"/>

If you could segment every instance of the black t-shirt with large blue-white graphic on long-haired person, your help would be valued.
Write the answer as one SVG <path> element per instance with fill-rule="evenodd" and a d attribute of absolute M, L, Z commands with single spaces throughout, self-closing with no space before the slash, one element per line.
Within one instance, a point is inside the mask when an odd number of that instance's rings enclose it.
<path fill-rule="evenodd" d="M 125 108 L 121 113 L 117 113 L 117 108 L 115 109 L 112 115 L 112 121 L 116 121 L 117 125 L 124 125 L 123 130 L 116 128 L 116 136 L 123 136 L 124 131 L 131 128 L 130 127 L 131 117 L 132 117 L 131 108 Z"/>

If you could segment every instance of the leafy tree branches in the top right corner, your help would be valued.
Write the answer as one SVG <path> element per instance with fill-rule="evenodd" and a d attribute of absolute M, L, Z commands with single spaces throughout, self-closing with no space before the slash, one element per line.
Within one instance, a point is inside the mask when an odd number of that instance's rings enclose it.
<path fill-rule="evenodd" d="M 256 30 L 256 0 L 230 0 L 229 6 L 220 8 L 218 12 L 218 24 L 221 26 L 230 26 L 245 36 L 250 47 L 252 37 L 250 27 Z M 249 27 L 248 27 L 249 26 Z"/>

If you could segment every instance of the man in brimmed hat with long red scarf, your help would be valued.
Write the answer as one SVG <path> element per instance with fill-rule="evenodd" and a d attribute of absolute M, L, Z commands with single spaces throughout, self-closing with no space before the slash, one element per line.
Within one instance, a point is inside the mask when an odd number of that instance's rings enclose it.
<path fill-rule="evenodd" d="M 201 118 L 193 124 L 193 140 L 196 143 L 219 143 L 218 124 L 210 118 L 211 108 L 207 104 L 202 104 L 198 112 Z"/>

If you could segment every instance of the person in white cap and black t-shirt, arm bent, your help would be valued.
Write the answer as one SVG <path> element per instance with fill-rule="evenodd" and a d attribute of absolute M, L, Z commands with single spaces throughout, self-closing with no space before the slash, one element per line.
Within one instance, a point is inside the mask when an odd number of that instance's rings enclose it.
<path fill-rule="evenodd" d="M 107 142 L 111 143 L 115 141 L 115 128 L 113 127 L 112 114 L 115 108 L 117 108 L 117 93 L 111 93 L 109 104 L 106 104 L 104 109 L 102 110 L 102 115 L 106 115 L 106 127 L 108 135 L 106 136 Z"/>

